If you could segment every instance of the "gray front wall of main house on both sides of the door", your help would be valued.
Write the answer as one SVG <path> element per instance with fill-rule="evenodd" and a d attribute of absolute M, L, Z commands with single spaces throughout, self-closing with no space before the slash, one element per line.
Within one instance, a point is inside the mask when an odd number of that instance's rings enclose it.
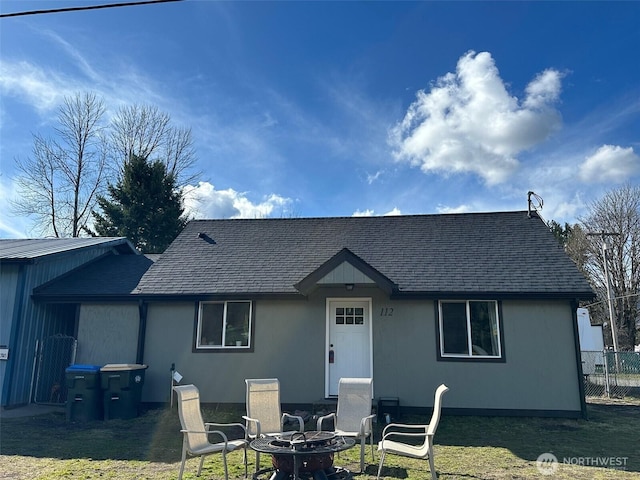
<path fill-rule="evenodd" d="M 284 403 L 313 403 L 324 396 L 326 297 L 342 289 L 318 289 L 308 300 L 255 302 L 255 350 L 194 353 L 194 303 L 152 304 L 147 323 L 143 401 L 169 399 L 169 369 L 195 383 L 204 402 L 243 403 L 245 378 L 278 377 Z M 400 398 L 403 406 L 429 407 L 446 383 L 446 407 L 580 411 L 572 312 L 568 302 L 505 301 L 506 362 L 437 360 L 435 303 L 389 300 L 374 288 L 350 297 L 373 299 L 375 396 Z M 393 307 L 392 316 L 382 316 Z M 388 312 L 388 310 L 387 310 Z"/>

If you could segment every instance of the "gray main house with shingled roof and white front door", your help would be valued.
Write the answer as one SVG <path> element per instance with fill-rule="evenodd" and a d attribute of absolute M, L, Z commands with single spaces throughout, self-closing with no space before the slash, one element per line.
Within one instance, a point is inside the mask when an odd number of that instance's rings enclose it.
<path fill-rule="evenodd" d="M 194 220 L 130 294 L 89 275 L 34 299 L 80 305 L 82 363 L 148 365 L 143 402 L 169 401 L 175 364 L 203 402 L 278 377 L 283 402 L 312 406 L 371 376 L 403 411 L 441 383 L 452 413 L 586 411 L 576 309 L 594 293 L 536 212 Z M 136 341 L 105 344 L 124 328 Z"/>

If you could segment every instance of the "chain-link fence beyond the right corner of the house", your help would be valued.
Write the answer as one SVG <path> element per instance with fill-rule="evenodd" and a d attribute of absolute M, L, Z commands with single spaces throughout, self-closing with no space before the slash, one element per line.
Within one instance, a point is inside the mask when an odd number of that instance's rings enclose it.
<path fill-rule="evenodd" d="M 640 353 L 582 351 L 586 397 L 640 397 Z"/>

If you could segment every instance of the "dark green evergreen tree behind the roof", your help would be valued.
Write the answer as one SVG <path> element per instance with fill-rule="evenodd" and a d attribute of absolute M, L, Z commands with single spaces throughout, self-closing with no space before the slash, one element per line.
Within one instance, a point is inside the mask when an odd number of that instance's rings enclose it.
<path fill-rule="evenodd" d="M 122 178 L 99 196 L 98 235 L 127 237 L 143 253 L 162 253 L 187 223 L 182 196 L 163 162 L 132 155 Z"/>

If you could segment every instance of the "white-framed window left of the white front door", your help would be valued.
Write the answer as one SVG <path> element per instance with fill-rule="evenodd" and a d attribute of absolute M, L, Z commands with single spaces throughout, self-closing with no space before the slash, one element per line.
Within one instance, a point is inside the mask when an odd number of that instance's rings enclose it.
<path fill-rule="evenodd" d="M 249 348 L 251 302 L 200 302 L 196 348 Z"/>

